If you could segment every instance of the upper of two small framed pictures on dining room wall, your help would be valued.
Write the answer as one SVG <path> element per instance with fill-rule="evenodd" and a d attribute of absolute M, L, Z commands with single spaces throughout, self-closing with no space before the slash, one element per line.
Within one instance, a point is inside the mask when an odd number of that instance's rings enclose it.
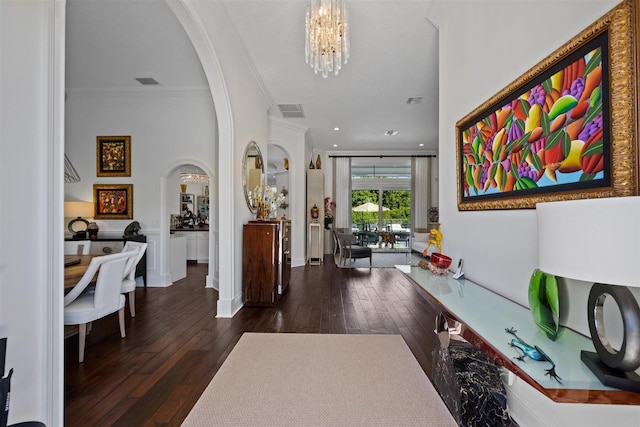
<path fill-rule="evenodd" d="M 96 169 L 97 176 L 131 176 L 131 137 L 98 136 Z"/>

